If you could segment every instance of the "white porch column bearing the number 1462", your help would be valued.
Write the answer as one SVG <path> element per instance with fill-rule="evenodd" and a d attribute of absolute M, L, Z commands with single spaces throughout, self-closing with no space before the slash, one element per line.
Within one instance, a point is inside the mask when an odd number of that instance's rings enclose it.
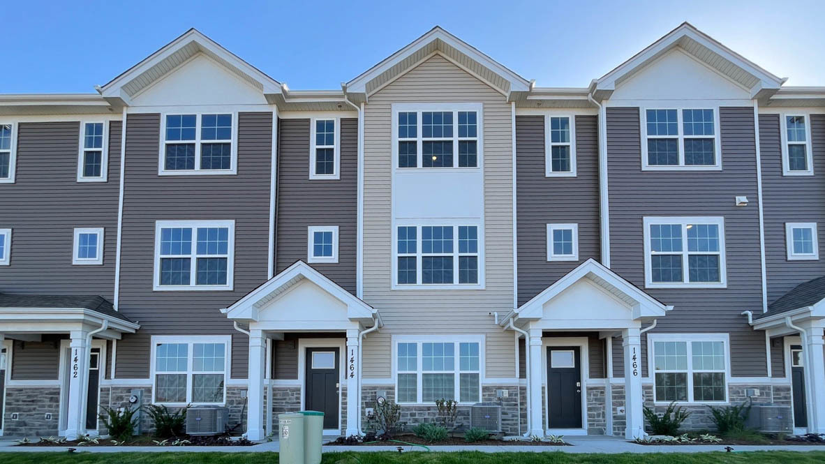
<path fill-rule="evenodd" d="M 68 405 L 66 408 L 66 438 L 76 440 L 86 434 L 86 386 L 89 376 L 88 330 L 69 333 Z"/>

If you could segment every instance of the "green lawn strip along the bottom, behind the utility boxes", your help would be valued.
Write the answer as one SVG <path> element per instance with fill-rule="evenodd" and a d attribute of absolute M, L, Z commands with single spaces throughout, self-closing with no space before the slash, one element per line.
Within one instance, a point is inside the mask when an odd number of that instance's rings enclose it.
<path fill-rule="evenodd" d="M 275 452 L 15 452 L 3 464 L 276 464 Z M 661 454 L 568 454 L 565 452 L 328 452 L 323 464 L 813 464 L 825 452 L 705 452 Z"/>

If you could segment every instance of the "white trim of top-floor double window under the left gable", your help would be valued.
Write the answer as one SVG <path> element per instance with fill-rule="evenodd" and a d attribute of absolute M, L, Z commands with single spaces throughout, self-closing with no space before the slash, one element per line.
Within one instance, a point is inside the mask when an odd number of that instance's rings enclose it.
<path fill-rule="evenodd" d="M 166 169 L 166 146 L 167 143 L 181 143 L 179 140 L 167 141 L 166 139 L 166 117 L 177 115 L 195 115 L 195 169 Z M 232 139 L 230 146 L 230 167 L 229 169 L 200 169 L 200 144 L 201 143 L 226 143 L 225 140 L 200 139 L 200 129 L 202 128 L 203 115 L 232 115 Z M 238 111 L 174 111 L 161 113 L 160 115 L 160 148 L 158 152 L 158 176 L 220 176 L 238 174 Z M 185 141 L 188 143 L 189 141 Z"/>

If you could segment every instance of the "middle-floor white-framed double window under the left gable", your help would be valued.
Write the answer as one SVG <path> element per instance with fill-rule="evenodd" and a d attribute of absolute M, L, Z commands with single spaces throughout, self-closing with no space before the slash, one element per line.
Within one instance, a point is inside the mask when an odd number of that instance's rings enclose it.
<path fill-rule="evenodd" d="M 232 290 L 235 221 L 157 221 L 154 290 Z"/>

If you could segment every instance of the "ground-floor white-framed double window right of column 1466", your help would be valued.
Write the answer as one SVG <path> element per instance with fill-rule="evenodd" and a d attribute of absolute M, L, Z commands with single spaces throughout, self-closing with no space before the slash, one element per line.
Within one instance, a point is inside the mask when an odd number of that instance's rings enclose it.
<path fill-rule="evenodd" d="M 658 403 L 728 401 L 727 334 L 650 334 L 648 363 Z"/>

